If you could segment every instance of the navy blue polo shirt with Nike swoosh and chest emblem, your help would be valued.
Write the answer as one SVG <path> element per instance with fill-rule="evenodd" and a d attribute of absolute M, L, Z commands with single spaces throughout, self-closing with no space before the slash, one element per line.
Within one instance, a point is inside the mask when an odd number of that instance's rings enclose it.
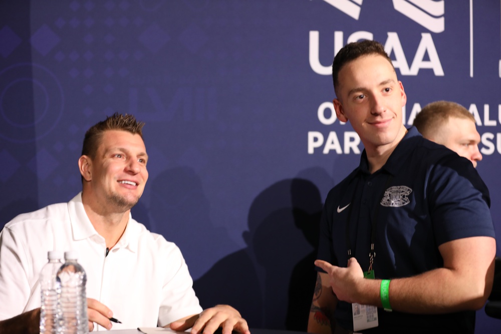
<path fill-rule="evenodd" d="M 442 243 L 494 237 L 489 206 L 488 189 L 472 163 L 412 127 L 380 170 L 369 173 L 364 150 L 359 167 L 329 192 L 318 258 L 346 267 L 350 248 L 367 271 L 375 226 L 376 278 L 417 275 L 443 266 Z M 353 328 L 351 304 L 338 302 L 335 317 L 342 327 Z M 378 317 L 378 328 L 364 332 L 474 329 L 473 311 L 421 315 L 378 309 Z"/>

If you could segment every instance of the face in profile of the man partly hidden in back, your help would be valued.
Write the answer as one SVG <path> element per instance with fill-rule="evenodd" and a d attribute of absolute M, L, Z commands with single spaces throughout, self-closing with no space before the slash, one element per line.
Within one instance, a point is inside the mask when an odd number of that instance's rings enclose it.
<path fill-rule="evenodd" d="M 475 122 L 470 119 L 449 117 L 430 140 L 465 157 L 473 167 L 476 167 L 477 161 L 482 160 L 478 150 L 480 135 L 476 131 Z"/>

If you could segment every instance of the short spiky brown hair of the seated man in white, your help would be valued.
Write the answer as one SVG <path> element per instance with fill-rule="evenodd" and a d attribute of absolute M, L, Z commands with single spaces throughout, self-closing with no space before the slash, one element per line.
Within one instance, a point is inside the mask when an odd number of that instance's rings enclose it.
<path fill-rule="evenodd" d="M 99 141 L 107 130 L 127 131 L 132 134 L 138 134 L 143 138 L 143 126 L 144 122 L 136 121 L 133 115 L 114 113 L 107 117 L 106 120 L 93 125 L 87 130 L 82 146 L 82 155 L 87 155 L 94 159 L 96 157 Z"/>

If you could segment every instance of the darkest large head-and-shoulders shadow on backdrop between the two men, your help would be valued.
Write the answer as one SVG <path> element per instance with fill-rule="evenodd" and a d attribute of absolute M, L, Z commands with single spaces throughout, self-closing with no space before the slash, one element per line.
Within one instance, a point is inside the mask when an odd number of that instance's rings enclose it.
<path fill-rule="evenodd" d="M 306 331 L 321 210 L 309 180 L 285 179 L 263 190 L 249 209 L 247 247 L 195 280 L 202 307 L 226 303 L 250 327 Z"/>

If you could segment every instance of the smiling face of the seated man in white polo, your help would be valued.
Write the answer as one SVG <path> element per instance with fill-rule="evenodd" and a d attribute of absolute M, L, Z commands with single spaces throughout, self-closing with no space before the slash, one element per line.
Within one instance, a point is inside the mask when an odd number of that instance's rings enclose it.
<path fill-rule="evenodd" d="M 107 130 L 99 140 L 95 158 L 79 159 L 84 178 L 84 203 L 125 212 L 141 197 L 148 171 L 146 148 L 138 134 Z"/>

